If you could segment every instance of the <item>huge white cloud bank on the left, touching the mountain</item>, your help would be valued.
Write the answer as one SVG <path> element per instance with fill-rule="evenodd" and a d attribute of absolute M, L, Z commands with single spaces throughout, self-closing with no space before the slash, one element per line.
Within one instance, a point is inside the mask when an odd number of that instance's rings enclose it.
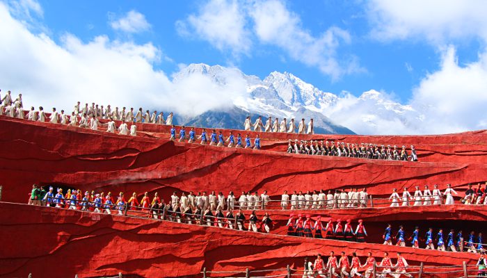
<path fill-rule="evenodd" d="M 231 105 L 239 81 L 216 86 L 189 76 L 175 84 L 152 63 L 161 56 L 153 44 L 111 41 L 104 35 L 81 42 L 67 34 L 62 44 L 36 35 L 0 2 L 0 84 L 3 90 L 22 92 L 26 106 L 72 111 L 76 101 L 138 108 L 170 109 L 194 116 Z M 220 93 L 221 92 L 221 93 Z M 166 110 L 167 111 L 167 110 Z M 166 112 L 165 111 L 165 112 Z"/>

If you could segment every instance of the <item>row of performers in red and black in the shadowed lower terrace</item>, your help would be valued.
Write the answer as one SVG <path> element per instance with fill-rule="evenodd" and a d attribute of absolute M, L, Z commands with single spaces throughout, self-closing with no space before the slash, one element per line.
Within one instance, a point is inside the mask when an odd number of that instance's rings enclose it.
<path fill-rule="evenodd" d="M 313 234 L 314 232 L 314 234 Z M 351 225 L 351 220 L 346 220 L 342 225 L 342 220 L 337 220 L 337 224 L 333 224 L 333 219 L 328 219 L 326 226 L 321 222 L 321 216 L 317 216 L 316 221 L 312 221 L 310 215 L 297 216 L 294 213 L 289 215 L 287 221 L 287 235 L 288 236 L 303 236 L 306 238 L 328 238 L 335 240 L 356 241 L 358 243 L 365 243 L 367 231 L 362 220 L 358 220 L 358 225 L 354 230 Z"/>

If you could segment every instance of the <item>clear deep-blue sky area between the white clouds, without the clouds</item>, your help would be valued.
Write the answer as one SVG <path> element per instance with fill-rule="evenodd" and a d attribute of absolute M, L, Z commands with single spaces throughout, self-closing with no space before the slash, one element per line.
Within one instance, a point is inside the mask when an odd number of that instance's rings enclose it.
<path fill-rule="evenodd" d="M 370 89 L 394 93 L 399 101 L 407 101 L 413 88 L 427 72 L 438 70 L 440 56 L 435 47 L 424 40 L 383 42 L 371 37 L 371 24 L 362 1 L 286 1 L 287 8 L 301 19 L 303 29 L 318 36 L 330 26 L 337 26 L 351 34 L 351 42 L 343 44 L 339 58 L 356 56 L 363 71 L 344 74 L 332 80 L 316 67 L 289 58 L 279 47 L 253 40 L 249 54 L 232 55 L 230 49 L 221 51 L 211 43 L 198 38 L 179 35 L 175 22 L 197 14 L 204 1 L 39 1 L 44 10 L 43 21 L 54 40 L 65 32 L 88 42 L 97 35 L 111 39 L 130 39 L 137 43 L 152 42 L 169 59 L 155 67 L 164 72 L 175 72 L 178 64 L 207 63 L 232 65 L 246 74 L 263 79 L 270 72 L 292 72 L 304 81 L 328 92 L 342 90 L 360 95 Z M 120 18 L 130 10 L 145 16 L 150 30 L 141 33 L 115 31 L 109 21 Z M 477 58 L 478 43 L 469 40 L 458 44 L 461 61 Z M 410 66 L 409 70 L 407 65 Z"/>

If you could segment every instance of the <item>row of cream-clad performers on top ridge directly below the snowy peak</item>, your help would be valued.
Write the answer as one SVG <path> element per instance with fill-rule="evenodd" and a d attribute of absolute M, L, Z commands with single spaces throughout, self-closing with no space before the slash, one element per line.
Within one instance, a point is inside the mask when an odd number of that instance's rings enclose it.
<path fill-rule="evenodd" d="M 279 119 L 276 117 L 272 120 L 272 117 L 269 117 L 266 120 L 266 124 L 262 122 L 262 116 L 257 117 L 254 123 L 250 120 L 250 116 L 245 119 L 244 122 L 244 130 L 250 131 L 253 128 L 254 131 L 257 132 L 281 132 L 281 133 L 296 133 L 296 123 L 294 122 L 294 118 L 291 119 L 289 122 L 289 126 L 287 124 L 286 118 L 279 122 Z M 301 134 L 314 134 L 314 122 L 313 119 L 310 119 L 308 125 L 305 124 L 305 119 L 301 119 L 297 126 L 298 130 L 297 133 Z"/>

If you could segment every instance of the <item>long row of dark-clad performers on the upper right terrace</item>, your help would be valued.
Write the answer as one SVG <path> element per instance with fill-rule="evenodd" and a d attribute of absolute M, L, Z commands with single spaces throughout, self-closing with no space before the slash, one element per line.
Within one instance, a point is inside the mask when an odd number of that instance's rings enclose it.
<path fill-rule="evenodd" d="M 397 146 L 391 147 L 388 145 L 376 145 L 361 143 L 345 143 L 345 142 L 328 142 L 310 140 L 298 142 L 289 140 L 287 143 L 287 152 L 289 154 L 311 154 L 317 156 L 344 156 L 354 158 L 368 158 L 368 159 L 381 159 L 381 160 L 394 160 L 394 161 L 417 161 L 417 152 L 413 145 L 410 146 L 410 154 L 406 149 L 406 146 L 402 146 L 399 149 Z"/>

